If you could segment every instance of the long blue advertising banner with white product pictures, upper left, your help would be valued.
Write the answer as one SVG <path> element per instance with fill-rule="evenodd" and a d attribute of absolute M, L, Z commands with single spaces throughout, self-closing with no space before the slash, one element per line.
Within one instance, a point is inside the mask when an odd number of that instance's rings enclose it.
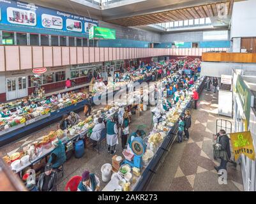
<path fill-rule="evenodd" d="M 0 0 L 0 29 L 29 33 L 87 36 L 94 20 L 21 1 Z"/>

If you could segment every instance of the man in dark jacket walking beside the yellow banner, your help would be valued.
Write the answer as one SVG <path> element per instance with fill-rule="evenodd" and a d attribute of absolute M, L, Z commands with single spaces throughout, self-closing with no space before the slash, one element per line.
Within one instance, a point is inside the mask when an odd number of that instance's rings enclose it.
<path fill-rule="evenodd" d="M 220 130 L 217 143 L 220 144 L 220 166 L 215 166 L 215 170 L 227 170 L 227 162 L 230 160 L 231 152 L 229 137 L 226 135 L 225 130 Z"/>

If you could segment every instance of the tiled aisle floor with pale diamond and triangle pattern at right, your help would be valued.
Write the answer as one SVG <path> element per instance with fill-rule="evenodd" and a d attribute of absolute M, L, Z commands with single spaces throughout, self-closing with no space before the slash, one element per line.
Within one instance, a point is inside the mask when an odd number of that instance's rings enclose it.
<path fill-rule="evenodd" d="M 227 184 L 218 183 L 213 159 L 213 133 L 216 119 L 231 120 L 218 115 L 218 94 L 203 91 L 199 110 L 192 110 L 190 139 L 174 143 L 162 168 L 154 175 L 150 191 L 243 191 L 239 164 L 229 163 Z"/>

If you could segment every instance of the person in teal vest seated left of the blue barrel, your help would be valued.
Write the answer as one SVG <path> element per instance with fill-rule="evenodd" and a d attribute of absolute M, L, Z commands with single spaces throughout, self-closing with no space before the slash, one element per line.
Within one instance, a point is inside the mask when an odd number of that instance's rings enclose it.
<path fill-rule="evenodd" d="M 61 140 L 57 140 L 54 142 L 55 149 L 52 151 L 50 155 L 49 163 L 52 163 L 52 168 L 59 168 L 66 161 L 66 151 L 65 146 L 61 142 Z"/>

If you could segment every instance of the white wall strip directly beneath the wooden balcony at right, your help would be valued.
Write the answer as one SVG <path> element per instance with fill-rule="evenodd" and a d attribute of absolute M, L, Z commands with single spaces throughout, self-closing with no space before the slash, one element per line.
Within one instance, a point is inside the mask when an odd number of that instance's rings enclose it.
<path fill-rule="evenodd" d="M 255 71 L 256 64 L 202 62 L 201 75 L 208 76 L 208 77 L 221 77 L 221 75 L 232 75 L 232 69 L 243 69 L 245 71 Z"/>

